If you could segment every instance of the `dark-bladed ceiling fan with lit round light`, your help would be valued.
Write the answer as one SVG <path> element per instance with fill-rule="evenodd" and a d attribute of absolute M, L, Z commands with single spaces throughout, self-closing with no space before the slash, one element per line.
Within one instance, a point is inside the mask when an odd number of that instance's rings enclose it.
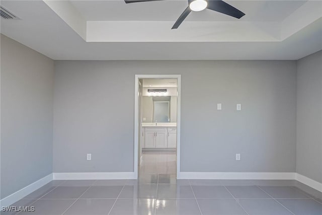
<path fill-rule="evenodd" d="M 138 2 L 153 2 L 162 0 L 124 0 L 126 4 L 128 3 L 138 3 Z M 181 16 L 178 18 L 177 22 L 173 25 L 171 29 L 177 29 L 180 24 L 186 19 L 191 11 L 202 11 L 204 9 L 210 9 L 217 11 L 222 14 L 226 14 L 231 17 L 240 19 L 245 14 L 238 9 L 232 7 L 231 5 L 221 1 L 221 0 L 188 0 L 188 7 Z"/>

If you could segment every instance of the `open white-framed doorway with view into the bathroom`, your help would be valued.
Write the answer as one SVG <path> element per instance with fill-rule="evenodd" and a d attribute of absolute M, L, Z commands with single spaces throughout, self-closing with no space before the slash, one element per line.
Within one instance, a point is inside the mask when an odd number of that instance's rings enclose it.
<path fill-rule="evenodd" d="M 181 75 L 135 75 L 134 174 L 180 173 Z"/>

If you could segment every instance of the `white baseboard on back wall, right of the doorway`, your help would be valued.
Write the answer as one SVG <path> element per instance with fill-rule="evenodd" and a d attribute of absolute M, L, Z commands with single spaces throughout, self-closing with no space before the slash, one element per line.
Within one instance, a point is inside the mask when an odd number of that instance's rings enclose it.
<path fill-rule="evenodd" d="M 180 172 L 178 179 L 294 180 L 293 172 Z"/>

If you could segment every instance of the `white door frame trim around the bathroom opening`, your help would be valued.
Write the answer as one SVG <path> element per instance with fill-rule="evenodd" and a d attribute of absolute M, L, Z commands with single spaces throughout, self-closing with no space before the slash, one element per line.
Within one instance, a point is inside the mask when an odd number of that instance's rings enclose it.
<path fill-rule="evenodd" d="M 177 177 L 180 175 L 181 75 L 135 75 L 134 89 L 134 176 L 138 177 L 138 82 L 139 79 L 177 79 Z"/>

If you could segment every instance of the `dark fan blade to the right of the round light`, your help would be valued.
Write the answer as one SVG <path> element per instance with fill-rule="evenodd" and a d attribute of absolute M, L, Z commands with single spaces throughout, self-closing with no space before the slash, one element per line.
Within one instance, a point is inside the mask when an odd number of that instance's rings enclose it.
<path fill-rule="evenodd" d="M 208 9 L 240 19 L 245 14 L 221 0 L 209 0 Z"/>

